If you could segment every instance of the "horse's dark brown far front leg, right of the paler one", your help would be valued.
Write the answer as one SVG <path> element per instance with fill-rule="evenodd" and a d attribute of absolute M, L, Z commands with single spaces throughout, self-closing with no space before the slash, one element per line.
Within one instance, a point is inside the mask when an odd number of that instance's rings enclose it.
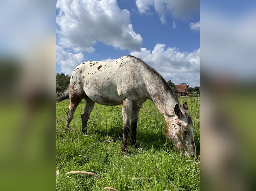
<path fill-rule="evenodd" d="M 136 143 L 136 130 L 138 124 L 138 116 L 140 112 L 140 106 L 136 105 L 132 108 L 132 117 L 131 117 L 131 137 L 130 143 L 137 149 L 138 145 Z"/>

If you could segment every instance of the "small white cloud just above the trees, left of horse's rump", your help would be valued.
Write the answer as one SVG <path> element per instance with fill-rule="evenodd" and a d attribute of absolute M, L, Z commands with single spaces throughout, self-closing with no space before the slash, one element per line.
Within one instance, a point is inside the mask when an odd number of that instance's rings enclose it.
<path fill-rule="evenodd" d="M 56 62 L 60 65 L 61 72 L 71 75 L 74 68 L 84 61 L 84 55 L 81 52 L 73 54 L 56 45 Z"/>

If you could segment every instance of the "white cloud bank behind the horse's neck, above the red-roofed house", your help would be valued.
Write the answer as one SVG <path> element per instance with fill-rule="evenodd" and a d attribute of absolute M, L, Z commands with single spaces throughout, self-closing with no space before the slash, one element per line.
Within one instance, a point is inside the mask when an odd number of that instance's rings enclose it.
<path fill-rule="evenodd" d="M 165 49 L 165 44 L 156 44 L 152 51 L 141 48 L 130 54 L 155 68 L 166 81 L 200 85 L 200 48 L 189 53 L 179 52 L 175 47 Z"/>

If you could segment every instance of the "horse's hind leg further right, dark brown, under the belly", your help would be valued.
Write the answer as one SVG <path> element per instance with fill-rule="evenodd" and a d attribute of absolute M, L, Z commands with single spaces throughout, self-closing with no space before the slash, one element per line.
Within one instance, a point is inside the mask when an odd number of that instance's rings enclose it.
<path fill-rule="evenodd" d="M 86 101 L 85 108 L 81 115 L 82 132 L 84 134 L 87 133 L 87 122 L 89 120 L 90 113 L 92 112 L 93 107 L 94 107 L 94 102 L 91 99 L 89 99 L 87 96 L 85 97 L 85 101 Z"/>

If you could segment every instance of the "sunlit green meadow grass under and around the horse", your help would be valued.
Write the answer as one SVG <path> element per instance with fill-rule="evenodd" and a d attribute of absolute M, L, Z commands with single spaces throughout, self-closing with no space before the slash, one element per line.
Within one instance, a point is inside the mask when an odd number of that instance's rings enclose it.
<path fill-rule="evenodd" d="M 194 123 L 194 135 L 197 154 L 200 152 L 200 98 L 180 98 L 181 103 L 188 102 L 189 113 Z M 175 190 L 170 181 L 179 190 L 200 190 L 199 156 L 194 161 L 186 161 L 173 149 L 165 136 L 165 120 L 149 100 L 140 111 L 137 128 L 137 144 L 140 153 L 128 143 L 128 152 L 132 157 L 121 154 L 122 106 L 103 106 L 95 104 L 88 121 L 87 135 L 79 136 L 81 131 L 81 113 L 85 106 L 78 106 L 69 130 L 63 134 L 69 100 L 56 104 L 56 176 L 57 190 L 103 190 L 112 187 L 129 191 Z M 81 157 L 83 155 L 86 157 Z M 159 169 L 159 173 L 154 166 Z M 89 171 L 103 180 L 89 175 L 69 174 L 69 171 Z M 151 180 L 131 180 L 137 177 Z"/>

